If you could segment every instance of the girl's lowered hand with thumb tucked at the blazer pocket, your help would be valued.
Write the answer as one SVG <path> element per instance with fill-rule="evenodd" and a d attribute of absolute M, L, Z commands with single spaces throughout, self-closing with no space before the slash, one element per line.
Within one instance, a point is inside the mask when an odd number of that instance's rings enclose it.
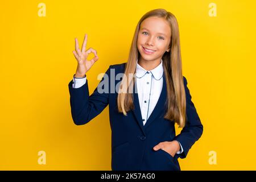
<path fill-rule="evenodd" d="M 171 142 L 160 142 L 154 147 L 155 151 L 159 149 L 168 152 L 168 154 L 174 158 L 174 155 L 180 150 L 180 144 L 177 140 L 173 140 Z"/>

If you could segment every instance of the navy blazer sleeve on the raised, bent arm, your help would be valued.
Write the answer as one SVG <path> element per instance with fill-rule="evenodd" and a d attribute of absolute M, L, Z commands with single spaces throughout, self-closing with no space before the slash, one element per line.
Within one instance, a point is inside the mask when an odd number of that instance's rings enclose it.
<path fill-rule="evenodd" d="M 110 69 L 112 65 L 109 66 L 108 70 L 105 72 L 104 77 L 102 77 L 99 82 L 98 87 L 102 90 L 104 89 L 104 84 L 108 84 L 110 80 Z M 105 77 L 108 77 L 105 80 Z M 73 80 L 72 80 L 73 81 Z M 109 89 L 108 92 L 98 92 L 98 89 L 94 89 L 94 92 L 89 96 L 88 89 L 88 79 L 86 83 L 80 88 L 72 88 L 72 81 L 68 84 L 70 105 L 71 105 L 71 115 L 73 122 L 76 125 L 84 125 L 101 113 L 109 104 Z M 104 82 L 102 82 L 104 81 Z"/>

